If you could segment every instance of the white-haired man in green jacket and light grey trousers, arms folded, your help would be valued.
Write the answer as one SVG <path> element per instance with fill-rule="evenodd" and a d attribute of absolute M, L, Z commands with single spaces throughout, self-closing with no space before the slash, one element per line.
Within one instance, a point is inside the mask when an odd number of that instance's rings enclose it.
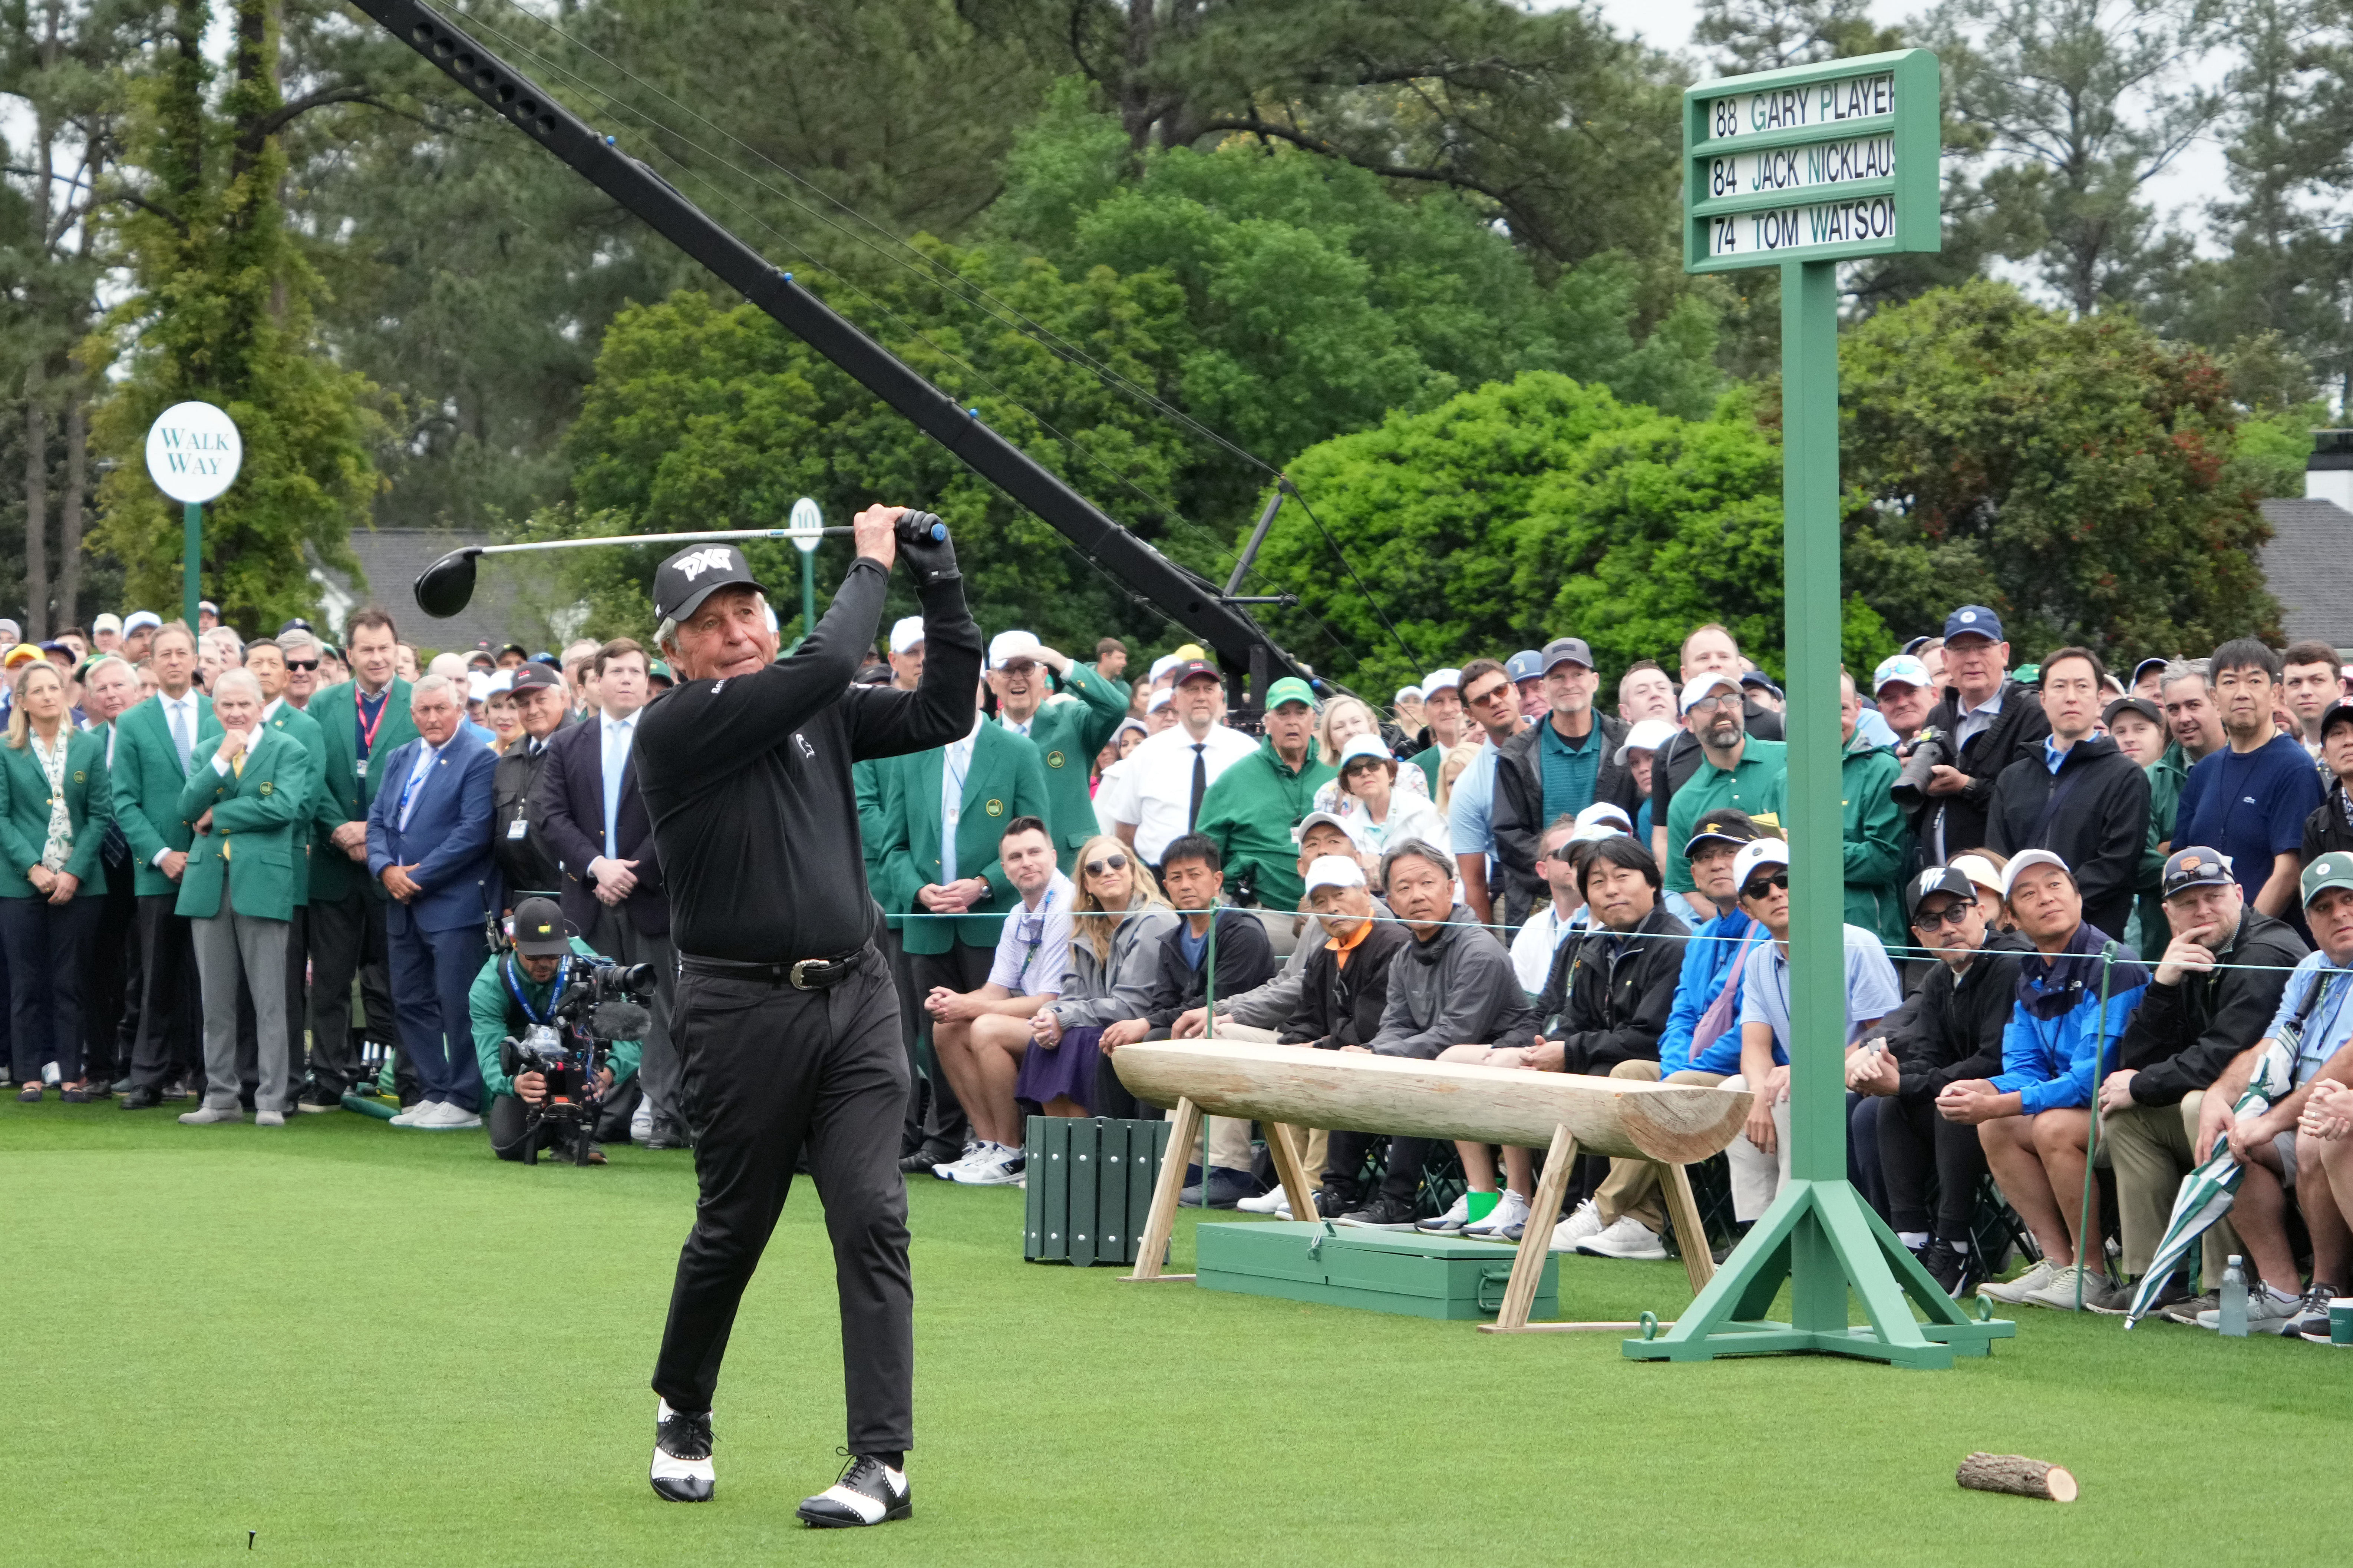
<path fill-rule="evenodd" d="M 311 809 L 311 752 L 261 722 L 261 682 L 221 670 L 212 682 L 221 738 L 198 745 L 179 792 L 193 853 L 176 912 L 191 922 L 205 990 L 205 1105 L 188 1126 L 245 1121 L 238 1105 L 238 980 L 254 997 L 261 1084 L 254 1124 L 285 1126 L 287 1110 L 287 919 L 301 877 L 296 837 Z"/>

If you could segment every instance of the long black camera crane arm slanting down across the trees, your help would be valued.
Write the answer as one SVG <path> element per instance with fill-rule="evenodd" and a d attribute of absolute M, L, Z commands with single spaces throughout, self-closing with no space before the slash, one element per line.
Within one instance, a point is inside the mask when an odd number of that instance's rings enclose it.
<path fill-rule="evenodd" d="M 612 136 L 600 136 L 586 120 L 468 38 L 456 24 L 416 0 L 351 2 L 393 38 L 433 61 L 452 82 L 506 115 L 525 136 L 572 165 L 576 174 L 642 219 L 664 240 L 704 263 L 720 282 L 774 317 L 779 327 L 913 421 L 918 430 L 976 475 L 1045 520 L 1132 592 L 1200 637 L 1228 675 L 1247 672 L 1252 705 L 1264 698 L 1266 682 L 1280 675 L 1304 675 L 1292 656 L 1235 607 L 1231 585 L 1219 592 L 1214 583 L 1179 567 L 1106 517 L 1059 475 L 958 407 L 953 397 L 809 294 L 791 273 L 769 266 L 760 252 L 744 244 L 654 169 L 619 150 Z"/>

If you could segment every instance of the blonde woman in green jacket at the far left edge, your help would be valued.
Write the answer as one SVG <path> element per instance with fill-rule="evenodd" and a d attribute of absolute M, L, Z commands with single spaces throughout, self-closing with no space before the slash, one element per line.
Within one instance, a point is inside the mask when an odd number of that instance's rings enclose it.
<path fill-rule="evenodd" d="M 82 978 L 99 919 L 106 835 L 106 741 L 66 717 L 66 677 L 49 661 L 16 675 L 0 743 L 0 945 L 7 947 L 12 1072 L 38 1100 L 56 1063 L 61 1093 L 82 1084 Z"/>

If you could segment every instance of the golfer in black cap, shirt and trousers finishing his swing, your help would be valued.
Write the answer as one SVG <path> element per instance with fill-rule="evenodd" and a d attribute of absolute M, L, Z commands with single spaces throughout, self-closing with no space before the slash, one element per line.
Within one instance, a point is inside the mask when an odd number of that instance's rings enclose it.
<path fill-rule="evenodd" d="M 925 541 L 906 545 L 929 644 L 922 682 L 849 684 L 882 616 L 899 510 L 859 512 L 859 559 L 781 663 L 741 550 L 708 543 L 666 559 L 654 614 L 680 684 L 645 710 L 635 743 L 671 886 L 671 1037 L 701 1182 L 654 1366 L 652 1481 L 675 1502 L 711 1497 L 711 1389 L 807 1147 L 833 1237 L 852 1455 L 800 1505 L 812 1526 L 906 1519 L 915 1436 L 906 1051 L 875 952 L 882 914 L 866 891 L 849 764 L 965 736 L 981 679 L 955 555 Z"/>

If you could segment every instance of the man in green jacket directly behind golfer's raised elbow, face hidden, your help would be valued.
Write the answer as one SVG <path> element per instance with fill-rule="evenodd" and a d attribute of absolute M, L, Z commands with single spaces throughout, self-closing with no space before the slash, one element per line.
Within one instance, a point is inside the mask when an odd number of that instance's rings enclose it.
<path fill-rule="evenodd" d="M 873 811 L 871 853 L 882 867 L 873 884 L 885 914 L 899 914 L 908 976 L 918 997 L 974 992 L 988 983 L 998 931 L 1019 903 L 998 863 L 998 839 L 1016 816 L 1045 818 L 1049 806 L 1038 748 L 1002 724 L 972 715 L 972 733 L 936 752 L 887 757 L 882 799 Z M 861 813 L 861 832 L 864 832 Z M 927 1023 L 918 1020 L 918 1023 Z M 929 1030 L 925 1030 L 929 1034 Z M 962 1159 L 969 1124 L 946 1074 L 927 1063 L 932 1110 L 922 1147 L 901 1171 L 929 1171 Z M 908 1098 L 920 1095 L 908 1084 Z"/>

